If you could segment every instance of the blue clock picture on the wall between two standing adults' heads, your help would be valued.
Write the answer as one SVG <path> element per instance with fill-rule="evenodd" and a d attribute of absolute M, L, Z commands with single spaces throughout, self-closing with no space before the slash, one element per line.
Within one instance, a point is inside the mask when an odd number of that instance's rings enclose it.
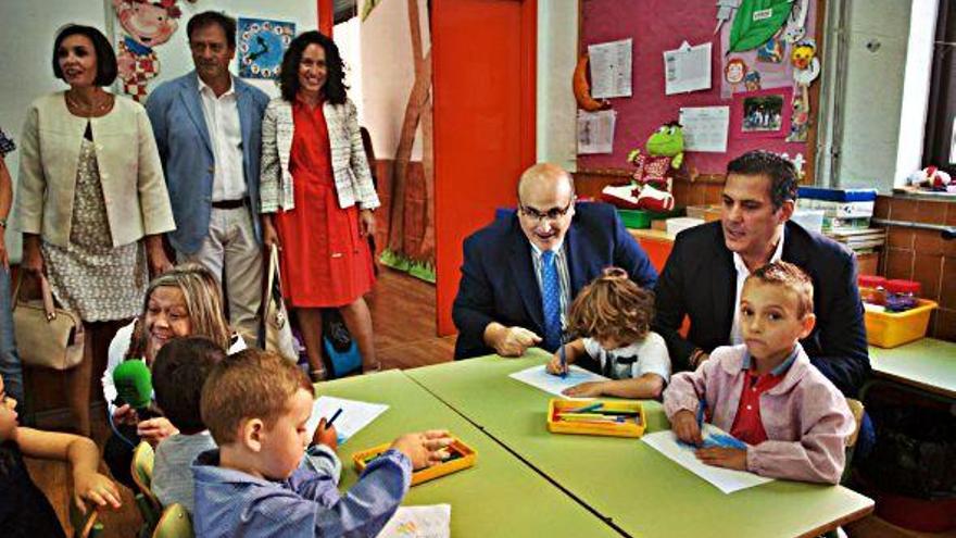
<path fill-rule="evenodd" d="M 295 35 L 295 23 L 263 18 L 239 18 L 239 76 L 279 77 L 282 54 Z"/>

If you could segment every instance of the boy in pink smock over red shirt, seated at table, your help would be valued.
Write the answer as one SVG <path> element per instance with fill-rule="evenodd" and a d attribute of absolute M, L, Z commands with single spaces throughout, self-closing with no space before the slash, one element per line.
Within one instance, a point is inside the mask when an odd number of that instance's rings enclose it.
<path fill-rule="evenodd" d="M 695 372 L 675 374 L 664 412 L 677 437 L 703 443 L 697 413 L 745 449 L 699 448 L 706 464 L 775 478 L 836 484 L 854 421 L 843 395 L 800 345 L 814 328 L 814 288 L 796 265 L 775 262 L 746 278 L 744 345 L 717 348 Z M 704 416 L 704 415 L 701 415 Z"/>

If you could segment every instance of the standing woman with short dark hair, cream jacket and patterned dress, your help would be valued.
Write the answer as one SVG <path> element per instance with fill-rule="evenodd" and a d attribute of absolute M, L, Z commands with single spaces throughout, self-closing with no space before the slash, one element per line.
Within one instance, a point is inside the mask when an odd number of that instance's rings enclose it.
<path fill-rule="evenodd" d="M 148 270 L 171 266 L 161 234 L 175 228 L 146 110 L 103 90 L 116 57 L 98 29 L 70 25 L 53 43 L 66 91 L 30 104 L 23 128 L 17 226 L 22 268 L 48 279 L 86 328 L 139 313 Z M 100 325 L 98 325 L 100 326 Z M 92 340 L 67 374 L 77 429 L 89 435 Z"/>

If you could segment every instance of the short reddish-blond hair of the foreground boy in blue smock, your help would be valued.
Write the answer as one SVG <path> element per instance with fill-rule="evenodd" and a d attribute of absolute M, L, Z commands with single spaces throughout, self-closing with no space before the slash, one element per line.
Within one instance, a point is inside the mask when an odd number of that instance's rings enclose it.
<path fill-rule="evenodd" d="M 299 389 L 313 393 L 309 377 L 288 359 L 259 349 L 240 351 L 210 373 L 202 388 L 202 422 L 216 445 L 235 442 L 242 421 L 260 418 L 273 427 Z"/>

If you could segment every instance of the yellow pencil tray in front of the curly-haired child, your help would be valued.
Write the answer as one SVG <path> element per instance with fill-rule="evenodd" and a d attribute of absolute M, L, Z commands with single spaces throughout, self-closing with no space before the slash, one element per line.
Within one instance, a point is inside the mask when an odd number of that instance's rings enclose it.
<path fill-rule="evenodd" d="M 644 408 L 637 400 L 552 398 L 548 404 L 548 430 L 552 434 L 641 437 L 646 425 Z"/>

